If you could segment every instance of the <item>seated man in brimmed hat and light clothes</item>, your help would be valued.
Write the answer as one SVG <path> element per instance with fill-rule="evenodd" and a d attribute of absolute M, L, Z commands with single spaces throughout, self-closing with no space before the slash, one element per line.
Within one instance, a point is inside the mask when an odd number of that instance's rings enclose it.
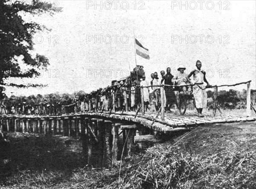
<path fill-rule="evenodd" d="M 183 64 L 180 64 L 178 67 L 179 73 L 174 76 L 175 82 L 178 83 L 180 88 L 183 91 L 183 94 L 191 94 L 192 88 L 191 86 L 183 86 L 183 85 L 189 85 L 189 82 L 187 80 L 188 74 L 186 74 L 185 71 L 185 66 Z"/>

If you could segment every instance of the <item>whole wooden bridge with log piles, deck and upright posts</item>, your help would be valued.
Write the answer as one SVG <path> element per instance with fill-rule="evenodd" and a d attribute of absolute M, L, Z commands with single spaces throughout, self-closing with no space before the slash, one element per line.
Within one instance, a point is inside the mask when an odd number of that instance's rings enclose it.
<path fill-rule="evenodd" d="M 142 89 L 142 88 L 141 88 Z M 247 82 L 247 115 L 250 113 L 250 82 Z M 122 157 L 131 156 L 135 144 L 143 142 L 156 143 L 170 136 L 182 134 L 196 126 L 207 123 L 233 123 L 255 121 L 250 116 L 237 117 L 233 115 L 203 112 L 204 117 L 198 117 L 196 110 L 187 110 L 185 115 L 179 111 L 166 113 L 164 111 L 163 86 L 161 91 L 161 108 L 158 112 L 145 112 L 143 106 L 137 112 L 129 112 L 127 102 L 122 112 L 104 112 L 102 109 L 91 109 L 86 112 L 63 115 L 1 115 L 0 129 L 6 132 L 32 132 L 44 135 L 63 135 L 81 139 L 86 163 L 113 166 Z M 217 87 L 215 87 L 215 99 Z M 127 100 L 127 99 L 126 99 Z M 113 107 L 115 96 L 113 93 Z M 181 133 L 179 133 L 181 132 Z M 165 137 L 167 136 L 167 137 Z M 95 152 L 96 154 L 95 156 Z M 97 157 L 96 161 L 95 158 Z M 94 162 L 94 163 L 93 163 Z"/>

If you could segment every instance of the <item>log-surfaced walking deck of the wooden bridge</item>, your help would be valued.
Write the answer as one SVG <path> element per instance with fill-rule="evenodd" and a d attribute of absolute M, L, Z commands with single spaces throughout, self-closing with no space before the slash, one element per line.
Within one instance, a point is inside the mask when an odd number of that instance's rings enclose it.
<path fill-rule="evenodd" d="M 145 115 L 142 115 L 141 112 L 138 113 L 135 117 L 136 112 L 82 112 L 82 113 L 71 113 L 65 115 L 52 115 L 52 116 L 34 116 L 34 115 L 16 115 L 11 116 L 7 115 L 6 117 L 13 118 L 63 118 L 63 117 L 79 117 L 81 115 L 87 117 L 96 117 L 96 118 L 111 118 L 116 120 L 126 120 L 136 123 L 140 123 L 143 126 L 149 127 L 156 131 L 160 132 L 174 132 L 180 130 L 189 130 L 195 126 L 205 124 L 205 123 L 233 123 L 239 121 L 255 121 L 255 118 L 252 117 L 238 117 L 231 115 L 221 115 L 221 114 L 212 114 L 204 112 L 204 117 L 198 117 L 195 111 L 187 111 L 185 115 L 180 115 L 179 112 L 165 113 L 165 120 L 160 119 L 160 114 L 157 119 L 157 112 L 145 112 Z M 153 121 L 155 122 L 153 123 Z"/>

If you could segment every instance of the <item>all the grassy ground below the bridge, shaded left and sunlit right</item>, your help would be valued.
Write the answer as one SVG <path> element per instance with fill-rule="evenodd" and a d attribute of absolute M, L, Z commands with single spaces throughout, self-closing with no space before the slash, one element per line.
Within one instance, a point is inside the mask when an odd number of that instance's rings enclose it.
<path fill-rule="evenodd" d="M 119 167 L 88 170 L 77 145 L 34 138 L 15 142 L 12 175 L 2 188 L 256 188 L 256 122 L 199 126 L 123 160 L 120 174 Z"/>

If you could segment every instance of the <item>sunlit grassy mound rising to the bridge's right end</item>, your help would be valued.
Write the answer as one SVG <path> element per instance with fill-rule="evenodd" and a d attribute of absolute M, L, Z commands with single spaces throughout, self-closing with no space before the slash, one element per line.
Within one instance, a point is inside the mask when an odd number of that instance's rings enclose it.
<path fill-rule="evenodd" d="M 148 149 L 135 161 L 119 187 L 253 189 L 256 122 L 199 126 L 175 143 Z"/>

